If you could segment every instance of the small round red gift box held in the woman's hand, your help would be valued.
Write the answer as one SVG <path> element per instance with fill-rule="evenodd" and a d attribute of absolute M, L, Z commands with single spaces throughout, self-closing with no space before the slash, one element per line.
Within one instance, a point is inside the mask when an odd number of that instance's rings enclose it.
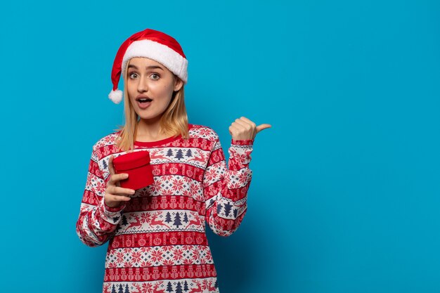
<path fill-rule="evenodd" d="M 141 189 L 153 183 L 150 154 L 146 150 L 127 152 L 113 159 L 117 174 L 127 173 L 129 178 L 119 181 L 123 188 Z"/>

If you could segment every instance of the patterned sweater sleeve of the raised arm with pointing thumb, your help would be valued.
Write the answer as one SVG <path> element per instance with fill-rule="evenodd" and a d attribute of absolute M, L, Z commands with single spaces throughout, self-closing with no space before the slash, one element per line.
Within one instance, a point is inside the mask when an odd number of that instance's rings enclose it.
<path fill-rule="evenodd" d="M 247 211 L 247 190 L 252 178 L 249 169 L 254 140 L 231 140 L 226 167 L 224 152 L 216 138 L 203 177 L 206 221 L 221 236 L 238 229 Z"/>

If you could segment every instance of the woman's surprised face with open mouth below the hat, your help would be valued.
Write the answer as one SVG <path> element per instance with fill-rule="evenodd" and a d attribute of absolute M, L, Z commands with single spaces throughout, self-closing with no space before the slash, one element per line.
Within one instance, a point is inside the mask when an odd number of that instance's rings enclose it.
<path fill-rule="evenodd" d="M 183 82 L 164 65 L 139 57 L 129 60 L 126 86 L 136 114 L 141 119 L 157 121 Z"/>

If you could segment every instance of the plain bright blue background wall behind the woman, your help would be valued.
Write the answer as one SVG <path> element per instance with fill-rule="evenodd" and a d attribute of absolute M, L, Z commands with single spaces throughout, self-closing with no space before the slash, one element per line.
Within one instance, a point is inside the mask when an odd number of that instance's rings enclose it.
<path fill-rule="evenodd" d="M 440 292 L 439 1 L 1 4 L 2 292 L 100 292 L 75 223 L 110 70 L 146 27 L 189 60 L 190 122 L 258 134 L 222 293 Z M 122 84 L 119 84 L 122 86 Z"/>

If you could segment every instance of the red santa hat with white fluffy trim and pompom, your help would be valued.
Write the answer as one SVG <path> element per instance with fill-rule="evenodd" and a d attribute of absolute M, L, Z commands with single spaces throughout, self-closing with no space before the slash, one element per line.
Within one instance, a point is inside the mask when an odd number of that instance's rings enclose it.
<path fill-rule="evenodd" d="M 129 37 L 116 53 L 112 68 L 113 89 L 108 94 L 113 103 L 119 104 L 122 100 L 122 91 L 117 89 L 121 73 L 124 76 L 127 62 L 134 57 L 145 57 L 161 63 L 176 74 L 183 83 L 188 80 L 188 60 L 180 44 L 168 34 L 157 30 L 146 29 L 136 32 Z"/>

